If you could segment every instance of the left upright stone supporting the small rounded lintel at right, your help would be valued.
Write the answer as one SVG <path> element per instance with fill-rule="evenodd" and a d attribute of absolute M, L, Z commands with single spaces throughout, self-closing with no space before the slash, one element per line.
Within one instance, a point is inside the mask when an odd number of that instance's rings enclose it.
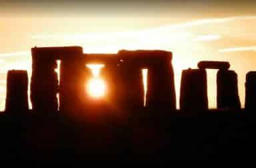
<path fill-rule="evenodd" d="M 181 111 L 186 113 L 208 110 L 206 70 L 183 70 L 179 104 Z"/>

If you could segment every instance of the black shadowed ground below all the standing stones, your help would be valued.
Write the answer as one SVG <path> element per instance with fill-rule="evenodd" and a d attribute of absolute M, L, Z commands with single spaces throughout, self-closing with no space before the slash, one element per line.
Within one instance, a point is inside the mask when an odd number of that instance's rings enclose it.
<path fill-rule="evenodd" d="M 141 115 L 123 122 L 74 122 L 59 116 L 0 117 L 1 159 L 39 163 L 102 160 L 254 159 L 256 118 L 245 112 Z"/>

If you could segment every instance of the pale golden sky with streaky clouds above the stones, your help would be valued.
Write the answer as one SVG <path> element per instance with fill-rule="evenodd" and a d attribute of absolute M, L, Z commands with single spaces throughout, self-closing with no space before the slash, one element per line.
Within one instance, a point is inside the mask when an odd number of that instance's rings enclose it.
<path fill-rule="evenodd" d="M 225 60 L 238 74 L 245 103 L 245 75 L 256 70 L 254 1 L 8 1 L 0 3 L 0 110 L 7 70 L 31 76 L 34 46 L 83 46 L 83 52 L 120 49 L 173 52 L 179 100 L 181 70 L 199 60 Z M 216 107 L 216 70 L 207 70 L 209 108 Z M 179 101 L 177 101 L 179 107 Z"/>

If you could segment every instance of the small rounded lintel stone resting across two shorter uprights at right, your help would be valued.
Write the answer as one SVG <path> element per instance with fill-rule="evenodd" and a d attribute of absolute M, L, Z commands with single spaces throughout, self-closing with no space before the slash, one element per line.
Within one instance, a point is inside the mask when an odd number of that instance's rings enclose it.
<path fill-rule="evenodd" d="M 197 67 L 200 69 L 229 69 L 230 68 L 230 64 L 229 62 L 224 62 L 224 61 L 209 61 L 209 60 L 205 60 L 205 61 L 200 61 L 197 64 Z"/>

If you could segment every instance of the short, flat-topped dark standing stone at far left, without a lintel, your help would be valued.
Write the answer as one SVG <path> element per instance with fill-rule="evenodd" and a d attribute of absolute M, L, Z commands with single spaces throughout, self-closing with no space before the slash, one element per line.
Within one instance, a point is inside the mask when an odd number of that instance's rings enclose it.
<path fill-rule="evenodd" d="M 7 96 L 5 111 L 9 113 L 27 112 L 28 77 L 26 70 L 9 70 L 7 73 Z"/>

